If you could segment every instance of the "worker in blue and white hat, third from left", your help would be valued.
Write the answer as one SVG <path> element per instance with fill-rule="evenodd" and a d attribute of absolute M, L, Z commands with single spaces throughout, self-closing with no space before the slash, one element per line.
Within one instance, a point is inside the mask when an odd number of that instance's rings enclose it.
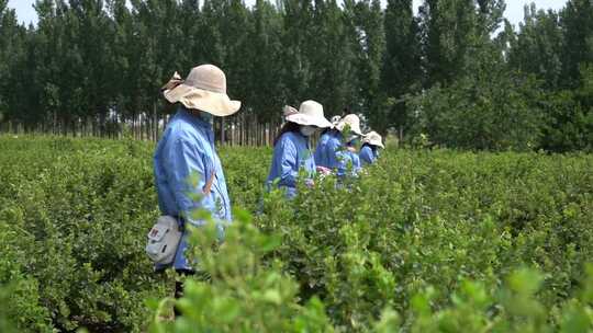
<path fill-rule="evenodd" d="M 346 142 L 344 135 L 351 136 Z M 355 138 L 362 136 L 360 130 L 360 118 L 355 114 L 349 114 L 342 118 L 334 128 L 327 133 L 325 140 L 320 140 L 315 150 L 315 162 L 317 166 L 323 166 L 336 172 L 337 175 L 346 174 L 348 165 L 355 166 L 357 157 L 353 151 Z M 356 168 L 355 168 L 356 169 Z"/>

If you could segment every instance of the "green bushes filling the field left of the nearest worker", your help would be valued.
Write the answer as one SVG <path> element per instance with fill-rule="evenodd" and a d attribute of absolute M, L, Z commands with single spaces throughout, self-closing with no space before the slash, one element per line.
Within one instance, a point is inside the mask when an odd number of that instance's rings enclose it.
<path fill-rule="evenodd" d="M 139 159 L 148 147 L 12 137 L 0 146 L 0 284 L 14 290 L 14 324 L 139 332 L 144 299 L 167 289 L 143 248 L 158 214 Z"/>

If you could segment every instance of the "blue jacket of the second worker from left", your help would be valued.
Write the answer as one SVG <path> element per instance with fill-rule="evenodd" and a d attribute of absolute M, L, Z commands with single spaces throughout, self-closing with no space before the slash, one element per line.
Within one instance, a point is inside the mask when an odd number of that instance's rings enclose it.
<path fill-rule="evenodd" d="M 310 176 L 315 174 L 315 160 L 309 147 L 309 139 L 300 133 L 284 133 L 273 147 L 270 173 L 266 181 L 268 190 L 278 180 L 278 187 L 287 188 L 287 196 L 294 197 L 301 169 Z"/>

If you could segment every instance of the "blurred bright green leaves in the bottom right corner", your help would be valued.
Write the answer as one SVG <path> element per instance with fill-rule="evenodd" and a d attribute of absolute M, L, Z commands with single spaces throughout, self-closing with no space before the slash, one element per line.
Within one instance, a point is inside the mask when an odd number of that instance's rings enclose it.
<path fill-rule="evenodd" d="M 593 328 L 593 317 L 585 295 L 593 272 L 590 266 L 586 271 L 582 289 L 558 310 L 546 309 L 537 300 L 544 276 L 527 268 L 513 272 L 495 292 L 489 292 L 480 283 L 463 280 L 452 294 L 450 306 L 438 311 L 432 310 L 435 291 L 427 287 L 413 299 L 416 319 L 410 331 L 589 332 Z M 558 315 L 558 325 L 550 324 L 550 313 Z"/>

